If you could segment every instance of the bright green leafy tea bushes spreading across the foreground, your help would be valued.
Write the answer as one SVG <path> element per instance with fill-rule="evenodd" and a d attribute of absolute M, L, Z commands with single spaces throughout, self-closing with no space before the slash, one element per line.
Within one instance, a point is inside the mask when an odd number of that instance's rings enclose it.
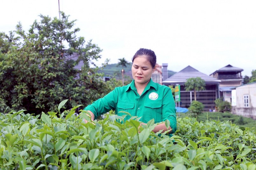
<path fill-rule="evenodd" d="M 25 110 L 1 113 L 0 169 L 242 169 L 255 170 L 256 133 L 230 122 L 177 120 L 174 136 L 154 133 L 154 120 L 106 114 L 90 120 L 76 106 L 41 117 Z M 128 113 L 127 113 L 128 114 Z M 165 122 L 166 126 L 169 122 Z"/>

